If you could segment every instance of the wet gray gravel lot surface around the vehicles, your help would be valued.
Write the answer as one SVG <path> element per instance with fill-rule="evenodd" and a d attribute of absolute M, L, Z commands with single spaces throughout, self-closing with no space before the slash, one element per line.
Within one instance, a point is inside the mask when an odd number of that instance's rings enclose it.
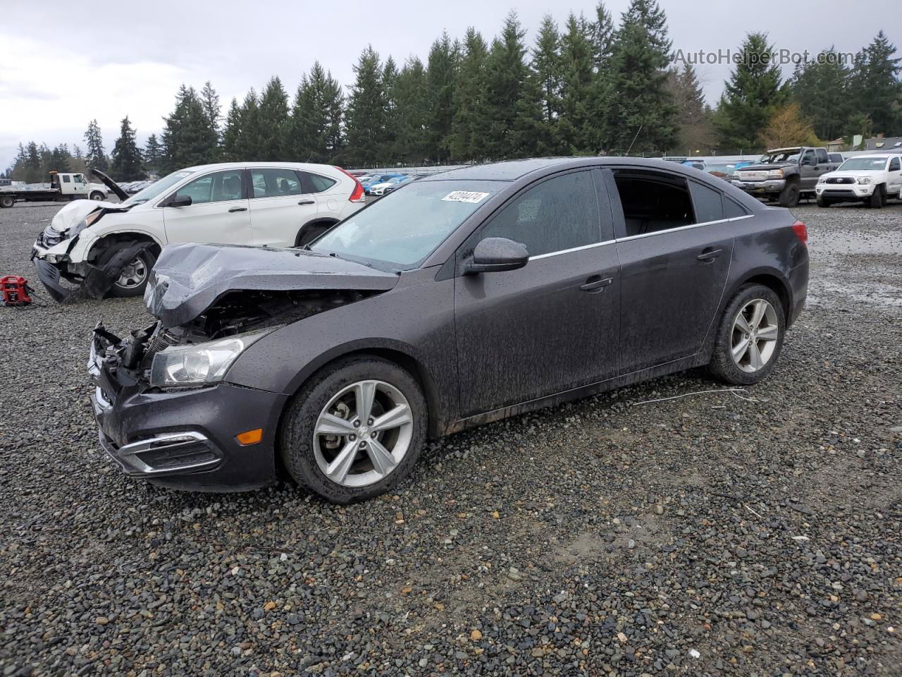
<path fill-rule="evenodd" d="M 57 209 L 0 210 L 0 274 Z M 351 507 L 124 478 L 85 361 L 140 300 L 0 307 L 0 674 L 902 674 L 902 204 L 796 214 L 808 310 L 746 397 L 494 423 Z"/>

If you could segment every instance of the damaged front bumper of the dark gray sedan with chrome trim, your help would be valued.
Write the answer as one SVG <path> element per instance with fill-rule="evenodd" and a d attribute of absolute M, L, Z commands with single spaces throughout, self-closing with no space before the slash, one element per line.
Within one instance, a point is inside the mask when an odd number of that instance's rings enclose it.
<path fill-rule="evenodd" d="M 199 491 L 244 491 L 276 481 L 275 436 L 287 395 L 225 383 L 161 391 L 117 378 L 98 348 L 95 338 L 87 371 L 99 443 L 126 475 Z M 256 444 L 235 438 L 258 428 L 263 435 Z"/>

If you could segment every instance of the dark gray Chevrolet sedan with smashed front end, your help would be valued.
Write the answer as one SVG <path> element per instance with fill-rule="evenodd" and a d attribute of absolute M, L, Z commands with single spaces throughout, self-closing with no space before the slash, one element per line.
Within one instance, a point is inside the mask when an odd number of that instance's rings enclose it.
<path fill-rule="evenodd" d="M 707 365 L 750 385 L 805 305 L 805 225 L 636 158 L 502 162 L 391 193 L 304 250 L 167 246 L 157 319 L 95 330 L 100 443 L 164 486 L 339 503 L 424 441 Z"/>

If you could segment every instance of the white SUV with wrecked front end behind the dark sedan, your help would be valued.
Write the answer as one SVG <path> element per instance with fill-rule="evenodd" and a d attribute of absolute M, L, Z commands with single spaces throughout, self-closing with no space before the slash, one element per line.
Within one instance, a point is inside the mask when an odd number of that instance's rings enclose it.
<path fill-rule="evenodd" d="M 365 201 L 360 181 L 326 164 L 205 164 L 131 197 L 101 178 L 122 202 L 71 202 L 34 243 L 32 261 L 57 301 L 72 291 L 60 278 L 95 298 L 140 296 L 170 242 L 303 246 Z"/>

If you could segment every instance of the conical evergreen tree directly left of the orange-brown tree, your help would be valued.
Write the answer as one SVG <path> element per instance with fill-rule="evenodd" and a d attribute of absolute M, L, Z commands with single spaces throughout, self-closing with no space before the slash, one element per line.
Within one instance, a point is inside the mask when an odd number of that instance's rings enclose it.
<path fill-rule="evenodd" d="M 767 57 L 761 58 L 774 52 L 766 33 L 750 33 L 740 51 L 745 58 L 725 83 L 714 114 L 722 153 L 748 153 L 759 148 L 761 130 L 788 98 L 778 66 Z"/>

